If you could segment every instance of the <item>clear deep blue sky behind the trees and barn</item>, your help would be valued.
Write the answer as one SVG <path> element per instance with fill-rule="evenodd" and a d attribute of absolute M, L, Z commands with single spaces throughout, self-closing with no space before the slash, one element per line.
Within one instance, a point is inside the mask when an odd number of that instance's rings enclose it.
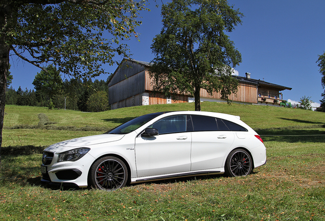
<path fill-rule="evenodd" d="M 242 25 L 229 33 L 242 54 L 242 63 L 235 68 L 239 76 L 249 72 L 251 78 L 292 87 L 291 91 L 282 91 L 285 100 L 299 101 L 306 96 L 319 103 L 324 90 L 316 61 L 325 51 L 325 1 L 228 0 L 228 3 L 244 14 Z M 158 4 L 161 5 L 159 1 Z M 137 28 L 140 42 L 126 41 L 133 59 L 148 62 L 154 57 L 150 49 L 152 39 L 162 27 L 160 8 L 155 8 L 153 2 L 149 8 L 150 12 L 141 13 L 143 24 Z M 13 88 L 33 89 L 32 82 L 40 69 L 17 57 L 11 57 L 10 63 Z M 105 66 L 111 73 L 116 68 Z"/>

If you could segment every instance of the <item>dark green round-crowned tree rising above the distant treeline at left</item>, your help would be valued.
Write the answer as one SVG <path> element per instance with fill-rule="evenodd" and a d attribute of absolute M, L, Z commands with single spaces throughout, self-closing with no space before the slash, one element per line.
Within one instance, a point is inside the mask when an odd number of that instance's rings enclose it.
<path fill-rule="evenodd" d="M 37 92 L 44 94 L 47 99 L 52 99 L 62 89 L 63 82 L 56 68 L 49 65 L 45 71 L 36 74 L 33 85 Z"/>

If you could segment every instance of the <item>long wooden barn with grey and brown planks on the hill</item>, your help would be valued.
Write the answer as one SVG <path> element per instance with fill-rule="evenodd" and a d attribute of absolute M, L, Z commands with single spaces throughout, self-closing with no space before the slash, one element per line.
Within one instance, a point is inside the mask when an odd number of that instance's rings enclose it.
<path fill-rule="evenodd" d="M 176 100 L 172 100 L 153 93 L 149 67 L 148 62 L 123 59 L 108 83 L 108 101 L 111 109 L 150 104 L 194 102 L 193 97 L 186 95 L 179 95 Z M 283 101 L 280 91 L 291 90 L 290 87 L 251 79 L 249 73 L 246 73 L 245 77 L 234 77 L 239 80 L 238 92 L 229 98 L 236 103 L 280 106 Z M 220 99 L 220 93 L 210 95 L 201 89 L 200 95 L 201 101 L 224 102 Z"/>

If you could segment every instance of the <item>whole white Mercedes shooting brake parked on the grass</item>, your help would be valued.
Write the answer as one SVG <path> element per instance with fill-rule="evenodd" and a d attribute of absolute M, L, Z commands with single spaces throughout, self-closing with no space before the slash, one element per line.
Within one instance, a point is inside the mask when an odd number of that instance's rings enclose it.
<path fill-rule="evenodd" d="M 266 163 L 261 137 L 240 117 L 159 112 L 105 134 L 44 149 L 42 181 L 114 190 L 127 183 L 222 174 L 245 176 Z"/>

